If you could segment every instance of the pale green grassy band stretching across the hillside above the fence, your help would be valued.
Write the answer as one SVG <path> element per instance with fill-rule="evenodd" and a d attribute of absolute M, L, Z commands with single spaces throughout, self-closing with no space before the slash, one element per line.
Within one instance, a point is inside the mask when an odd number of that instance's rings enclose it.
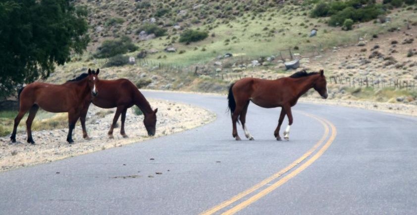
<path fill-rule="evenodd" d="M 287 6 L 288 7 L 288 6 Z M 301 6 L 291 6 L 295 10 L 301 10 Z M 360 28 L 355 28 L 352 31 L 342 31 L 340 27 L 329 27 L 323 22 L 318 22 L 319 19 L 310 18 L 306 15 L 288 15 L 287 10 L 281 10 L 272 17 L 272 12 L 265 12 L 262 17 L 256 17 L 254 20 L 244 16 L 236 20 L 230 21 L 228 24 L 207 24 L 195 26 L 193 29 L 206 30 L 209 26 L 217 26 L 209 30 L 209 35 L 213 34 L 215 37 L 209 36 L 206 40 L 190 43 L 174 43 L 177 48 L 176 53 L 159 52 L 148 56 L 148 60 L 161 62 L 165 64 L 188 66 L 197 63 L 207 63 L 218 55 L 224 53 L 241 54 L 248 58 L 256 58 L 259 56 L 268 56 L 271 54 L 278 55 L 279 50 L 293 48 L 299 46 L 298 53 L 312 53 L 314 50 L 320 48 L 331 48 L 332 46 L 342 44 L 355 44 L 359 37 L 370 39 L 373 34 L 381 34 L 392 27 L 404 26 L 403 20 L 417 21 L 417 16 L 414 11 L 398 11 L 392 15 L 393 19 L 390 23 L 374 24 L 371 22 L 361 23 Z M 287 13 L 287 14 L 284 14 Z M 295 12 L 293 12 L 295 14 Z M 290 19 L 291 17 L 291 19 Z M 401 18 L 400 18 L 401 17 Z M 289 20 L 290 19 L 290 20 Z M 321 18 L 320 20 L 326 20 Z M 304 24 L 303 24 L 304 23 Z M 313 26 L 319 25 L 316 37 L 308 37 Z M 233 28 L 230 28 L 233 26 Z M 358 24 L 356 25 L 358 26 Z M 268 28 L 264 31 L 264 28 Z M 268 32 L 273 30 L 275 33 L 273 37 L 268 37 Z M 282 31 L 282 32 L 280 32 Z M 280 33 L 276 33 L 280 32 Z M 324 33 L 327 32 L 327 33 Z M 254 36 L 260 34 L 258 36 Z M 161 40 L 154 39 L 139 43 L 140 47 L 156 48 L 163 50 L 170 43 L 173 37 L 179 38 L 179 35 L 162 37 Z M 235 38 L 235 39 L 232 39 Z M 226 42 L 228 41 L 228 42 Z M 198 47 L 195 50 L 195 47 Z M 201 51 L 201 48 L 206 51 Z M 185 50 L 185 53 L 178 54 L 179 50 Z M 158 59 L 158 56 L 165 55 L 166 58 Z"/>

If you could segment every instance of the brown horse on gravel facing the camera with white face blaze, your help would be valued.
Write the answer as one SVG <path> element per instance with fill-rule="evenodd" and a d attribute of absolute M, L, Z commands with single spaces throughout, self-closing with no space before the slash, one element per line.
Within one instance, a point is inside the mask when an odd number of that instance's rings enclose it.
<path fill-rule="evenodd" d="M 19 113 L 14 119 L 13 132 L 10 136 L 12 142 L 16 142 L 16 129 L 20 120 L 29 111 L 28 119 L 26 120 L 26 129 L 28 132 L 29 143 L 35 144 L 32 138 L 32 122 L 35 119 L 36 112 L 39 107 L 53 112 L 61 113 L 68 112 L 69 131 L 67 141 L 72 140 L 72 130 L 75 123 L 80 117 L 81 112 L 86 112 L 91 102 L 92 95 L 98 94 L 96 82 L 98 81 L 97 74 L 94 71 L 88 70 L 88 74 L 84 73 L 76 79 L 68 81 L 62 85 L 52 85 L 47 83 L 34 82 L 19 90 Z"/>

